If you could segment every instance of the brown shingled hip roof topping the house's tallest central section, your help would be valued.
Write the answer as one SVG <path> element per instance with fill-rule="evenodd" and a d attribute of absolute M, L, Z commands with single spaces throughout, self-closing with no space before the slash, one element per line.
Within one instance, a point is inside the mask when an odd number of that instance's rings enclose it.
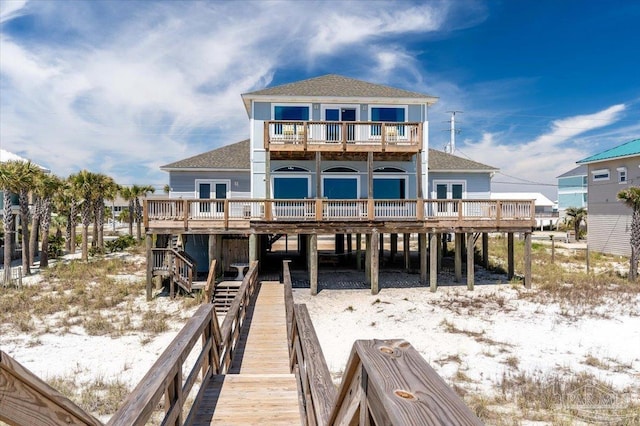
<path fill-rule="evenodd" d="M 337 74 L 327 74 L 307 80 L 268 87 L 242 94 L 247 113 L 251 115 L 251 100 L 290 97 L 296 100 L 312 100 L 312 98 L 340 98 L 355 100 L 373 99 L 410 99 L 416 103 L 434 104 L 438 98 L 424 93 L 397 89 L 382 84 L 369 83 L 355 78 Z"/>

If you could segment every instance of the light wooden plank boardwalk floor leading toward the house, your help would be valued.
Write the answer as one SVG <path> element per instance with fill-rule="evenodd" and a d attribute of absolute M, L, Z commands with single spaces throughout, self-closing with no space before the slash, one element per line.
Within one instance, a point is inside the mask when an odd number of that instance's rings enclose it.
<path fill-rule="evenodd" d="M 194 425 L 301 424 L 281 283 L 260 284 L 229 373 L 209 381 L 197 410 Z"/>

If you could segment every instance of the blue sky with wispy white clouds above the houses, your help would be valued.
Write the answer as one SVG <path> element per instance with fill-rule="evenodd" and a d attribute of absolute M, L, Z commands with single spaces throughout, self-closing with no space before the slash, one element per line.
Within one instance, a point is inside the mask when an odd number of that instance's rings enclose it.
<path fill-rule="evenodd" d="M 0 147 L 161 188 L 248 137 L 241 93 L 336 73 L 440 98 L 430 146 L 543 192 L 640 135 L 640 2 L 0 0 Z"/>

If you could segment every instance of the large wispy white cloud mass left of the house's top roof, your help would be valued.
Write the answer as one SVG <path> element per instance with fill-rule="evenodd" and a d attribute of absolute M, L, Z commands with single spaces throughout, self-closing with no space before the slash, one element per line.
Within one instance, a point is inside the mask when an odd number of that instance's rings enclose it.
<path fill-rule="evenodd" d="M 438 30 L 448 7 L 350 2 L 337 13 L 332 2 L 255 2 L 249 14 L 241 2 L 123 4 L 2 3 L 3 20 L 34 14 L 41 31 L 0 34 L 2 148 L 60 175 L 88 168 L 161 183 L 159 165 L 247 137 L 240 94 L 280 70 L 326 69 L 352 49 L 378 79 L 417 76 L 411 52 L 382 40 Z"/>

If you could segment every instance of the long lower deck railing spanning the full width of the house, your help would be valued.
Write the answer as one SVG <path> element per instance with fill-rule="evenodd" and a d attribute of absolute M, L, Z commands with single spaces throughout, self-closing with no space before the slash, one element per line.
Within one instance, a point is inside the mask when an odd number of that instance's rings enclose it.
<path fill-rule="evenodd" d="M 496 225 L 519 221 L 535 224 L 533 200 L 264 200 L 264 199 L 147 199 L 145 227 L 184 228 L 217 223 L 225 228 L 251 221 L 440 221 L 488 222 Z"/>

